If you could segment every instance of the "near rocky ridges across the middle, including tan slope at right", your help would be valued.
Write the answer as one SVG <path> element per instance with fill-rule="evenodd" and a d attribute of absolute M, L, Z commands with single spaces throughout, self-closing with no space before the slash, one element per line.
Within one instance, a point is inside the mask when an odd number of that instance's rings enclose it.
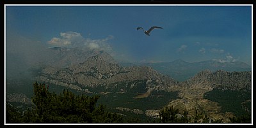
<path fill-rule="evenodd" d="M 58 48 L 56 49 L 58 50 Z M 77 58 L 69 60 L 79 59 L 80 57 L 83 57 L 83 59 L 66 66 L 49 64 L 42 67 L 41 71 L 38 71 L 38 82 L 60 85 L 86 94 L 89 94 L 89 92 L 90 94 L 110 93 L 120 94 L 121 96 L 127 92 L 127 94 L 133 93 L 136 96 L 147 94 L 147 97 L 158 97 L 161 96 L 162 92 L 177 92 L 178 99 L 167 101 L 169 102 L 168 106 L 174 106 L 179 110 L 188 110 L 191 115 L 195 113 L 195 108 L 205 108 L 205 110 L 200 111 L 216 118 L 228 118 L 230 114 L 221 113 L 218 103 L 204 99 L 206 92 L 213 89 L 246 90 L 250 92 L 252 89 L 251 71 L 229 72 L 220 69 L 217 71 L 208 69 L 199 71 L 184 82 L 179 82 L 150 66 L 121 66 L 109 53 L 104 51 L 87 51 L 88 54 L 83 56 L 84 52 L 76 50 L 67 51 L 67 49 L 63 49 L 63 52 L 71 52 L 70 55 L 74 55 L 74 57 L 76 57 L 75 53 L 79 54 Z M 60 55 L 60 58 L 56 59 L 56 64 L 68 60 L 65 59 L 65 57 L 68 57 L 65 55 L 67 54 Z M 190 63 L 177 60 L 175 64 L 186 66 Z M 151 92 L 155 94 L 151 95 Z M 134 99 L 134 96 L 129 98 Z M 140 99 L 143 100 L 143 98 Z M 209 104 L 211 105 L 209 106 Z M 157 115 L 157 112 L 151 114 Z"/>

